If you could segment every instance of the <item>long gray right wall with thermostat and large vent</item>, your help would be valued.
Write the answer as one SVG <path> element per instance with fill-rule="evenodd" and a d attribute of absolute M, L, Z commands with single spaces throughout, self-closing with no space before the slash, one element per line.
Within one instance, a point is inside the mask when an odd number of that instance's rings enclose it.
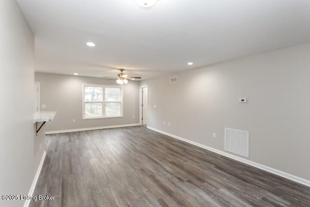
<path fill-rule="evenodd" d="M 140 85 L 148 85 L 149 127 L 221 151 L 224 127 L 249 131 L 250 160 L 310 180 L 310 44 Z"/>

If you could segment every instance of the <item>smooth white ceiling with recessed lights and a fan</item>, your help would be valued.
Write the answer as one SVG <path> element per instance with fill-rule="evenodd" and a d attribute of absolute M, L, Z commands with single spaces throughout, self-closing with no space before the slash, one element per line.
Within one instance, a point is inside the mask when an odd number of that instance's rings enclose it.
<path fill-rule="evenodd" d="M 40 72 L 101 77 L 125 68 L 143 80 L 310 42 L 310 0 L 159 0 L 151 9 L 134 0 L 17 2 Z"/>

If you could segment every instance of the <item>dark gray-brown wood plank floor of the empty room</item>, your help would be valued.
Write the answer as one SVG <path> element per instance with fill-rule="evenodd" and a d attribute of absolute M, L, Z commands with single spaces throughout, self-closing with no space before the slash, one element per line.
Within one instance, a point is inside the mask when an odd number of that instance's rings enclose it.
<path fill-rule="evenodd" d="M 310 188 L 145 127 L 47 135 L 31 207 L 310 207 Z"/>

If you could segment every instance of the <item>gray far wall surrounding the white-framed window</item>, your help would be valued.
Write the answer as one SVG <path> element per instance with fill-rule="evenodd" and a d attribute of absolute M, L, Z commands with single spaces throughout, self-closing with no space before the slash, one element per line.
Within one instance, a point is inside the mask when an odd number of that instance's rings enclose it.
<path fill-rule="evenodd" d="M 117 85 L 115 80 L 35 73 L 35 81 L 40 82 L 40 104 L 47 105 L 47 108 L 41 108 L 41 111 L 58 111 L 54 121 L 47 123 L 46 131 L 139 123 L 138 81 L 129 81 L 124 85 L 124 117 L 84 120 L 82 119 L 82 84 Z M 73 119 L 76 122 L 73 122 Z"/>

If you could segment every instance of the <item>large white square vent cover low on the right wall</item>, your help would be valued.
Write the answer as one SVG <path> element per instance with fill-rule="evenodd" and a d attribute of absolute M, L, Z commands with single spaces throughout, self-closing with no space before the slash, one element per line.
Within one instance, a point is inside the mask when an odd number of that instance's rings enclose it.
<path fill-rule="evenodd" d="M 248 157 L 248 131 L 225 128 L 224 149 Z"/>

